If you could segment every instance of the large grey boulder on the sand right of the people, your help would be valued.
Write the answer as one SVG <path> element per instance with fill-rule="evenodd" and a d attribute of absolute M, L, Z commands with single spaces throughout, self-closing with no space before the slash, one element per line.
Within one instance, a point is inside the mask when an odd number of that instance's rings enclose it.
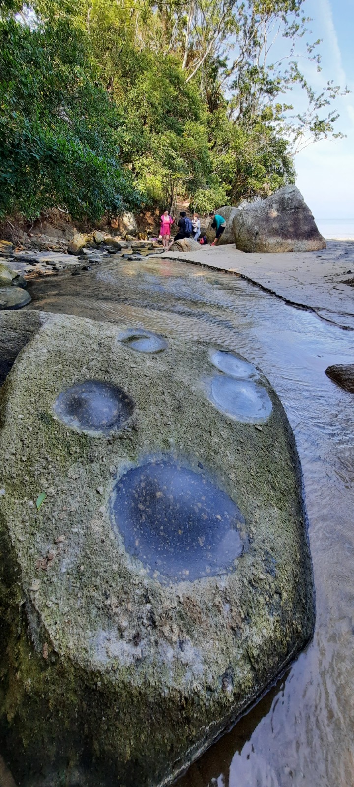
<path fill-rule="evenodd" d="M 245 252 L 318 251 L 326 241 L 296 186 L 238 208 L 232 221 L 236 249 Z"/>

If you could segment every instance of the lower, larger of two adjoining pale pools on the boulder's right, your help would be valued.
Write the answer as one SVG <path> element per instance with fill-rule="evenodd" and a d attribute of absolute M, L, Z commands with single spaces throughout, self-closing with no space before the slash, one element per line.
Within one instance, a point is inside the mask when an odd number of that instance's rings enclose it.
<path fill-rule="evenodd" d="M 210 386 L 211 401 L 226 416 L 245 423 L 259 423 L 271 415 L 271 399 L 263 386 L 251 380 L 216 375 Z"/>

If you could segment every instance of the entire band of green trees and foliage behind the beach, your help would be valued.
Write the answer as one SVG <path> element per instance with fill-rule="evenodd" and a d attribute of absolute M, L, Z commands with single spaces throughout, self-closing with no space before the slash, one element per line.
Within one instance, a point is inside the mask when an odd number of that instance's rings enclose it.
<path fill-rule="evenodd" d="M 0 0 L 0 216 L 94 222 L 177 191 L 204 212 L 293 182 L 291 145 L 334 133 L 339 91 L 297 68 L 303 5 Z M 293 84 L 308 109 L 290 122 Z"/>

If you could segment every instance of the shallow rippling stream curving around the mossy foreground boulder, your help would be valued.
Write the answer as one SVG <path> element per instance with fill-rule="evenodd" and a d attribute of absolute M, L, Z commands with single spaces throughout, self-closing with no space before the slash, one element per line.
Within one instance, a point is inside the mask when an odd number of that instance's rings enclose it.
<path fill-rule="evenodd" d="M 260 367 L 293 427 L 315 572 L 315 636 L 275 688 L 190 768 L 179 787 L 354 783 L 352 394 L 324 374 L 353 362 L 352 332 L 233 275 L 166 260 L 107 264 L 29 287 L 28 309 L 120 321 L 219 342 Z M 161 720 L 163 723 L 163 720 Z"/>

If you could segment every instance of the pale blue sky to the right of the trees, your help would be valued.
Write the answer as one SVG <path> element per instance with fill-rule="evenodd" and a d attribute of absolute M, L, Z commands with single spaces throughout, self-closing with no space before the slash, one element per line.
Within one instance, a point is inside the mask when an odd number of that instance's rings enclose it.
<path fill-rule="evenodd" d="M 314 87 L 328 79 L 354 91 L 354 0 L 308 0 L 306 12 L 315 38 L 323 39 L 322 72 L 306 66 Z M 346 139 L 323 141 L 295 157 L 297 186 L 316 220 L 354 220 L 354 93 L 338 99 L 337 128 Z"/>

